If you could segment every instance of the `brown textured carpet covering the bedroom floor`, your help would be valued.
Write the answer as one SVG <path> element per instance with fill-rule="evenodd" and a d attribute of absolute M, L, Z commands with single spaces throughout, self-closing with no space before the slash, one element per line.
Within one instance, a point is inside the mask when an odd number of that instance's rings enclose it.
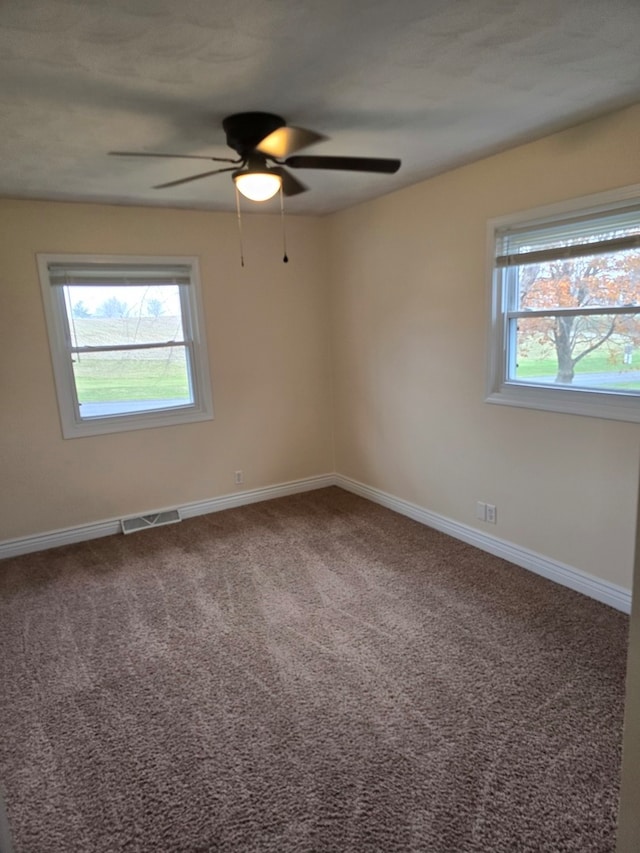
<path fill-rule="evenodd" d="M 626 631 L 336 488 L 6 560 L 16 851 L 613 851 Z"/>

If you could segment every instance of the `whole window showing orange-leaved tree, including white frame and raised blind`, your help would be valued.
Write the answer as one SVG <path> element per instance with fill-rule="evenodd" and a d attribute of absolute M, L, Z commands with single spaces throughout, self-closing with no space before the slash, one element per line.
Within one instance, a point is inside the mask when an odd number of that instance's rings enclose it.
<path fill-rule="evenodd" d="M 490 234 L 488 402 L 640 421 L 640 188 Z"/>

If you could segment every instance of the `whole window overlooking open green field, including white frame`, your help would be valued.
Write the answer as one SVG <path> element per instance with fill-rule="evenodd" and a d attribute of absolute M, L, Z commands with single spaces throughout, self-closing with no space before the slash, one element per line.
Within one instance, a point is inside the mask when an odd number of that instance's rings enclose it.
<path fill-rule="evenodd" d="M 65 438 L 213 417 L 195 258 L 38 266 Z"/>

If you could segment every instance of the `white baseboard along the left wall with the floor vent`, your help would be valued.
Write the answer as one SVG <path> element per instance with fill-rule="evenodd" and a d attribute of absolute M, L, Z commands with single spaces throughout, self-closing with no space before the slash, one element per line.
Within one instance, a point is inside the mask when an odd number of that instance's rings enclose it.
<path fill-rule="evenodd" d="M 335 477 L 332 474 L 325 474 L 318 477 L 306 477 L 303 480 L 292 480 L 288 483 L 279 483 L 275 486 L 264 486 L 260 489 L 234 492 L 230 495 L 222 495 L 219 498 L 194 501 L 179 507 L 145 509 L 135 514 L 155 515 L 158 512 L 177 509 L 182 518 L 194 518 L 196 515 L 207 515 L 210 512 L 220 512 L 224 509 L 233 509 L 246 504 L 283 498 L 287 495 L 301 494 L 302 492 L 310 492 L 314 489 L 323 489 L 334 485 L 336 485 Z M 128 515 L 133 514 L 129 513 Z M 120 518 L 112 518 L 92 524 L 81 524 L 78 527 L 67 527 L 64 530 L 52 530 L 48 533 L 36 533 L 33 536 L 25 536 L 19 539 L 8 539 L 0 542 L 0 560 L 18 557 L 22 554 L 31 554 L 34 551 L 46 551 L 48 548 L 58 548 L 61 545 L 72 545 L 74 542 L 99 539 L 101 536 L 113 536 L 121 532 Z"/>

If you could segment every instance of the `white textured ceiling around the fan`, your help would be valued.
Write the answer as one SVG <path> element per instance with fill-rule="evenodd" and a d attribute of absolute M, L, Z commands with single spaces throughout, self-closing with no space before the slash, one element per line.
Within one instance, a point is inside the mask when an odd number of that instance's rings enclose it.
<path fill-rule="evenodd" d="M 334 211 L 640 100 L 639 36 L 640 0 L 0 0 L 0 195 L 232 209 L 228 174 L 151 189 L 206 162 L 107 152 L 235 156 L 261 110 L 401 158 L 296 171 L 288 209 Z"/>

